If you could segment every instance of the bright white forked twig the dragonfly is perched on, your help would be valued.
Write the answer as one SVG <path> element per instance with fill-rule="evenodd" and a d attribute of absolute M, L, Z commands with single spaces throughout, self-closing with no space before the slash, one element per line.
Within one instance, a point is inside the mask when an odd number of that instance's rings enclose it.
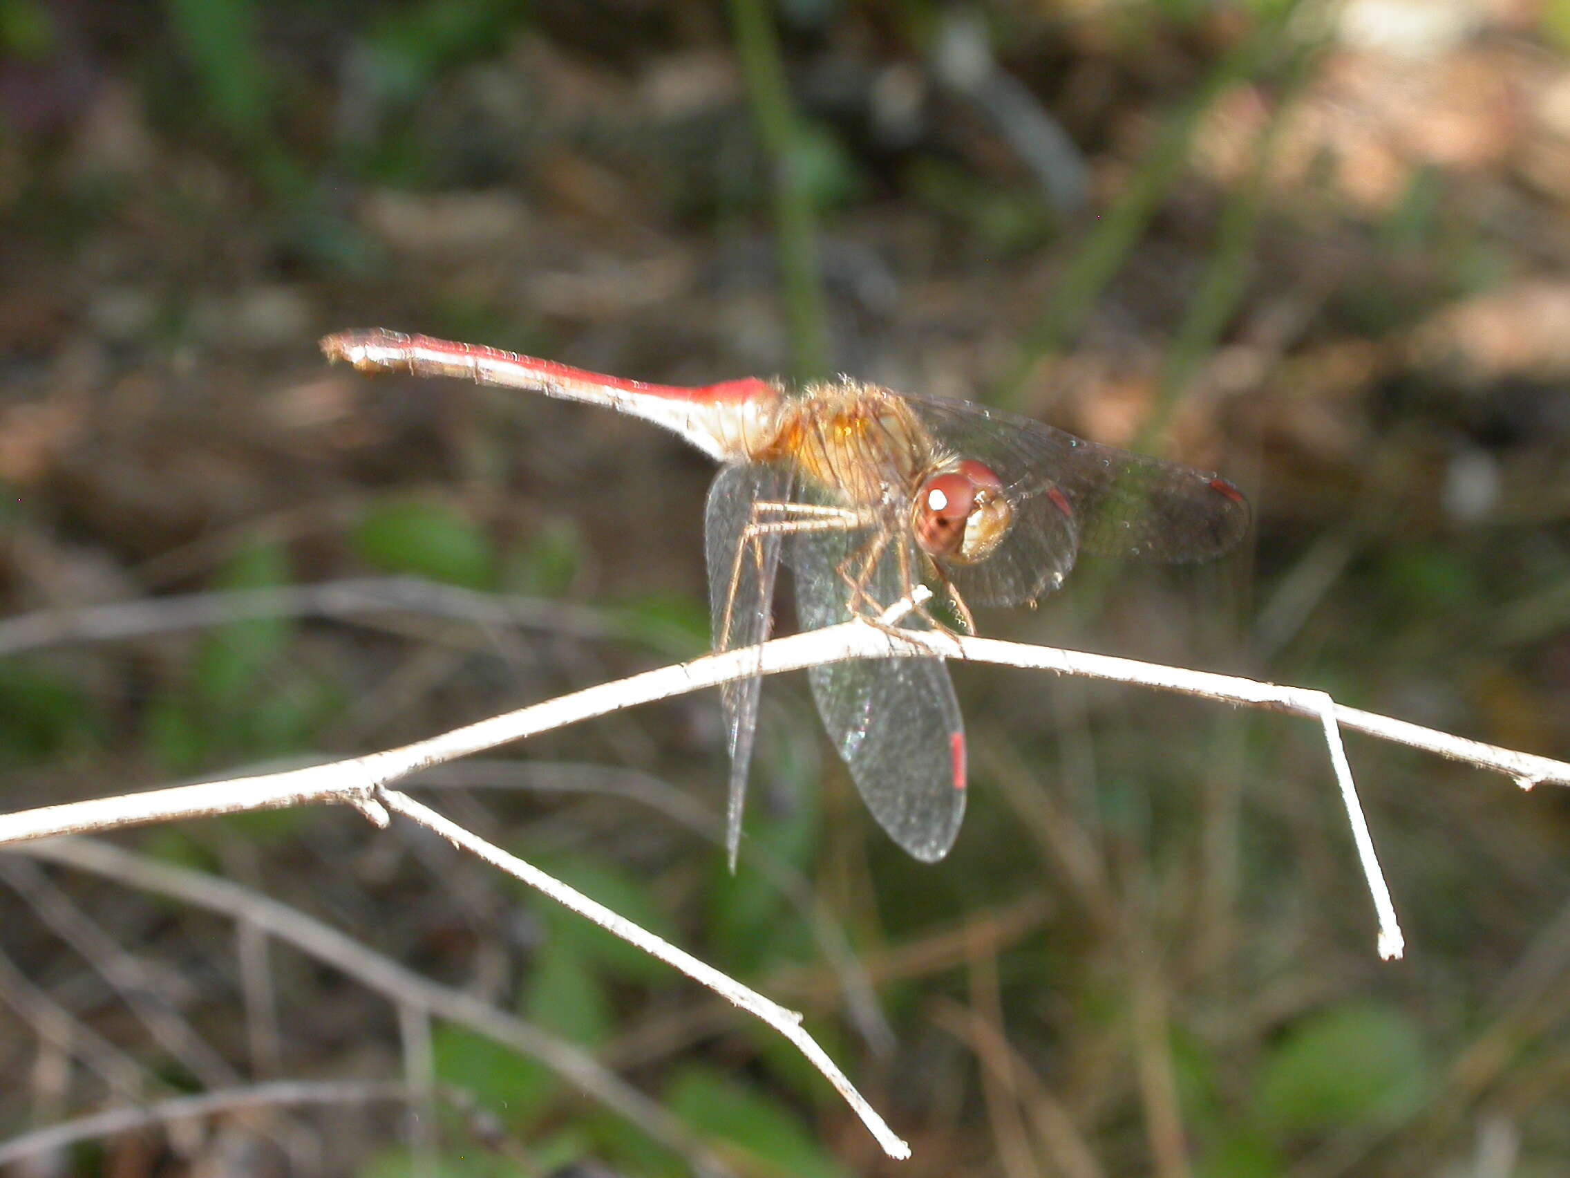
<path fill-rule="evenodd" d="M 1352 787 L 1350 768 L 1345 752 L 1341 749 L 1339 729 L 1352 727 L 1385 740 L 1394 740 L 1415 748 L 1429 749 L 1455 760 L 1471 762 L 1482 768 L 1496 770 L 1512 776 L 1517 784 L 1529 788 L 1539 782 L 1570 784 L 1570 765 L 1548 757 L 1535 757 L 1524 752 L 1495 748 L 1481 741 L 1463 740 L 1416 724 L 1377 716 L 1374 713 L 1345 708 L 1327 694 L 1306 691 L 1302 688 L 1276 686 L 1234 675 L 1217 675 L 1179 668 L 1154 666 L 1127 658 L 1107 655 L 1090 655 L 1083 652 L 1060 650 L 1053 647 L 1024 646 L 1019 642 L 1002 642 L 986 638 L 956 638 L 940 633 L 900 631 L 889 633 L 865 622 L 846 622 L 824 630 L 813 630 L 804 635 L 768 642 L 758 650 L 730 650 L 722 655 L 708 655 L 691 663 L 648 671 L 615 683 L 578 691 L 570 696 L 537 704 L 534 707 L 510 712 L 502 716 L 455 729 L 430 740 L 407 744 L 399 749 L 388 749 L 364 757 L 355 757 L 330 765 L 316 765 L 286 773 L 272 773 L 237 781 L 207 782 L 199 785 L 184 785 L 168 790 L 152 790 L 118 798 L 100 798 L 96 801 L 72 803 L 66 806 L 50 806 L 22 814 L 0 817 L 0 847 L 31 839 L 44 839 L 57 834 L 75 834 L 83 831 L 104 831 L 116 826 L 130 826 L 151 821 L 166 821 L 171 818 L 206 817 L 214 814 L 237 814 L 254 809 L 278 809 L 306 803 L 347 803 L 358 807 L 378 826 L 385 826 L 388 814 L 383 801 L 396 806 L 405 814 L 418 814 L 424 821 L 440 828 L 443 834 L 468 850 L 487 858 L 510 872 L 528 873 L 531 883 L 539 875 L 532 867 L 515 861 L 510 856 L 496 858 L 504 853 L 482 845 L 466 831 L 446 823 L 425 807 L 396 793 L 383 793 L 385 787 L 400 777 L 422 768 L 438 765 L 457 757 L 469 755 L 495 748 L 513 740 L 532 737 L 540 732 L 562 727 L 565 724 L 592 716 L 617 712 L 634 704 L 667 699 L 670 696 L 716 686 L 724 682 L 741 679 L 761 669 L 765 674 L 794 671 L 805 666 L 829 663 L 845 658 L 904 658 L 904 657 L 945 657 L 961 658 L 977 663 L 997 663 L 1003 666 L 1033 668 L 1053 671 L 1057 674 L 1088 675 L 1108 679 L 1119 683 L 1137 683 L 1163 691 L 1176 691 L 1203 699 L 1215 699 L 1229 704 L 1248 704 L 1276 712 L 1317 719 L 1325 730 L 1330 746 L 1331 765 L 1341 784 L 1342 799 L 1352 818 L 1353 837 L 1364 872 L 1369 876 L 1369 887 L 1374 894 L 1374 905 L 1378 914 L 1380 936 L 1378 950 L 1382 957 L 1400 953 L 1402 938 L 1396 925 L 1394 911 L 1389 903 L 1388 889 L 1378 872 L 1374 858 L 1372 840 L 1356 804 Z M 562 898 L 560 895 L 557 898 Z M 564 900 L 565 903 L 565 900 Z M 575 902 L 576 903 L 576 902 Z M 579 911 L 598 908 L 584 900 Z M 611 913 L 601 914 L 612 924 L 606 927 L 622 931 L 625 922 Z M 598 919 L 598 917 L 597 917 Z M 625 933 L 623 933 L 625 935 Z M 639 944 L 656 952 L 647 935 L 634 933 Z M 722 975 L 714 975 L 702 963 L 688 958 L 670 946 L 661 946 L 658 953 L 663 960 L 691 972 L 706 985 L 714 985 L 733 1002 L 738 1002 L 735 983 Z M 696 968 L 696 969 L 694 969 Z M 750 994 L 750 991 L 749 991 Z M 772 1007 L 774 1024 L 782 1030 L 796 1027 L 796 1019 L 790 1012 L 783 1012 L 769 1004 L 761 996 L 749 996 L 747 1008 L 768 1010 Z M 750 1005 L 754 1004 L 755 1005 Z M 771 1019 L 772 1021 L 772 1019 Z M 799 1032 L 799 1027 L 796 1027 Z M 787 1032 L 790 1033 L 790 1032 Z M 804 1035 L 804 1032 L 801 1032 Z M 793 1035 L 794 1038 L 794 1035 Z M 805 1040 L 812 1043 L 812 1040 Z M 801 1041 L 798 1041 L 801 1046 Z M 802 1048 L 807 1049 L 805 1046 Z M 827 1063 L 816 1044 L 809 1052 L 815 1062 Z M 907 1147 L 895 1137 L 881 1118 L 871 1112 L 860 1098 L 854 1095 L 843 1077 L 835 1079 L 832 1065 L 824 1071 L 846 1093 L 846 1098 L 857 1106 L 868 1128 L 879 1137 L 884 1148 L 892 1156 L 906 1156 Z M 843 1087 L 842 1087 L 843 1082 Z"/>

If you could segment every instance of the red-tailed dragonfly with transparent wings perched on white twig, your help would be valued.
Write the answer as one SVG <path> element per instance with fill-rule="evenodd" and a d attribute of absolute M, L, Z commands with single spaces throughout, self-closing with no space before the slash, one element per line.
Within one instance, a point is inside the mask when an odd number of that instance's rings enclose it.
<path fill-rule="evenodd" d="M 972 608 L 1035 605 L 1080 553 L 1204 561 L 1250 523 L 1243 493 L 1218 474 L 848 377 L 796 388 L 758 377 L 652 385 L 386 328 L 339 331 L 320 347 L 360 372 L 458 377 L 606 405 L 717 460 L 703 526 L 717 652 L 769 638 L 782 562 L 802 630 L 851 619 L 889 628 L 890 611 L 903 609 L 903 628 L 973 633 Z M 878 825 L 922 862 L 947 856 L 967 795 L 964 719 L 944 661 L 829 663 L 810 668 L 809 680 Z M 721 690 L 732 869 L 760 688 L 755 671 Z"/>

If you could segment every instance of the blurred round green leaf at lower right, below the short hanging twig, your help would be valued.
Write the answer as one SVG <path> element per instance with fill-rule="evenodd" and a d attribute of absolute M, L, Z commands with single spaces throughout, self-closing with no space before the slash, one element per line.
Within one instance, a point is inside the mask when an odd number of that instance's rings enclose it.
<path fill-rule="evenodd" d="M 1344 1004 L 1281 1041 L 1264 1066 L 1259 1112 L 1287 1132 L 1394 1126 L 1422 1107 L 1432 1081 L 1422 1032 L 1405 1013 Z"/>

